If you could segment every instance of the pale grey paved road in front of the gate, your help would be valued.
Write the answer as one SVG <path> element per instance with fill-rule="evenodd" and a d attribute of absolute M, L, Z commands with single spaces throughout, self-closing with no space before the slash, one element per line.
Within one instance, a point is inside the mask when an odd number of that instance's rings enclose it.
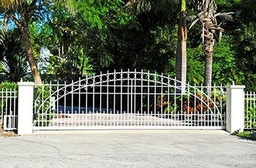
<path fill-rule="evenodd" d="M 0 167 L 256 167 L 256 142 L 225 131 L 57 131 L 0 137 Z"/>

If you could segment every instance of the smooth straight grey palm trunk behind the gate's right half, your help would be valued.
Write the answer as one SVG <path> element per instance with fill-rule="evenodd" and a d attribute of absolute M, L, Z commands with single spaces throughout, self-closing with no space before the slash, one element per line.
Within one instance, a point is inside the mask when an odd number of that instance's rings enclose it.
<path fill-rule="evenodd" d="M 186 14 L 181 11 L 178 19 L 178 42 L 176 52 L 176 80 L 180 81 L 177 93 L 184 93 L 187 79 L 187 23 Z"/>

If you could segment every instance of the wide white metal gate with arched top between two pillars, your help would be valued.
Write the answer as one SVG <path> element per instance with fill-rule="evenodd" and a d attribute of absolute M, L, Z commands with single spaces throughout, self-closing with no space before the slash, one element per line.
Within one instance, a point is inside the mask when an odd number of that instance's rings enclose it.
<path fill-rule="evenodd" d="M 225 129 L 222 86 L 206 89 L 150 72 L 100 73 L 37 85 L 34 130 Z M 178 91 L 178 92 L 177 92 Z"/>

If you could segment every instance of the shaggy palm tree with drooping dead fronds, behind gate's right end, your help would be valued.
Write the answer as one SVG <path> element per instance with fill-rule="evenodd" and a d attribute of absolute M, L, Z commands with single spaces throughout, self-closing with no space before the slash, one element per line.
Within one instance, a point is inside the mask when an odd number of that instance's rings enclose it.
<path fill-rule="evenodd" d="M 212 75 L 212 59 L 214 54 L 214 45 L 216 39 L 214 35 L 219 33 L 219 39 L 222 38 L 222 32 L 224 29 L 217 24 L 217 17 L 221 16 L 226 20 L 231 20 L 233 12 L 228 13 L 217 13 L 217 5 L 214 0 L 202 0 L 199 4 L 200 13 L 193 20 L 192 26 L 195 25 L 197 21 L 202 24 L 202 38 L 203 38 L 203 52 L 205 55 L 205 79 L 204 85 L 211 86 L 211 75 Z M 208 92 L 209 93 L 209 92 Z"/>

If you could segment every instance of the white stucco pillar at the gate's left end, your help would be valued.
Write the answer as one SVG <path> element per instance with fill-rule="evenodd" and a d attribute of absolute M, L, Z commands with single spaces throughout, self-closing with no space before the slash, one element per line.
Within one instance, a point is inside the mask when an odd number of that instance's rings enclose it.
<path fill-rule="evenodd" d="M 18 134 L 32 134 L 34 83 L 18 83 Z"/>

